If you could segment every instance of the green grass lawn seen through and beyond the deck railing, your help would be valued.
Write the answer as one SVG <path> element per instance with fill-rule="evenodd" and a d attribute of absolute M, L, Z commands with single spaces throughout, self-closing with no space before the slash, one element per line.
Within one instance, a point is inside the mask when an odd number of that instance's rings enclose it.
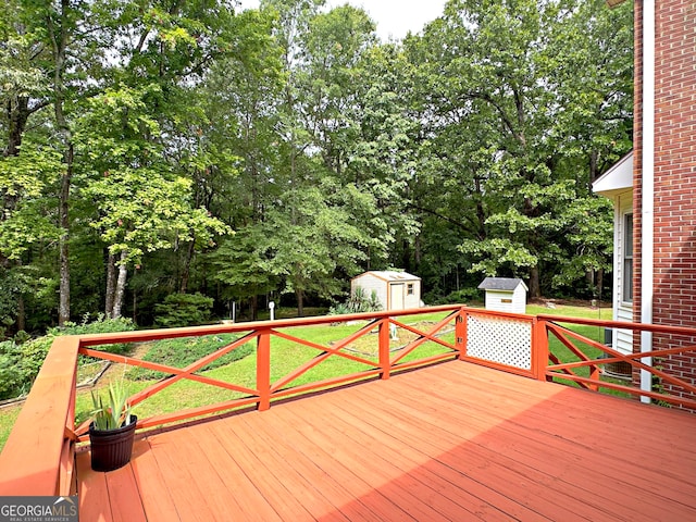
<path fill-rule="evenodd" d="M 591 319 L 610 319 L 611 309 L 607 308 L 597 310 L 583 307 L 558 306 L 555 310 L 549 310 L 540 306 L 529 306 L 527 313 L 552 313 L 557 315 L 583 316 Z M 418 323 L 417 327 L 427 331 L 430 330 L 431 324 L 435 324 L 444 316 L 445 314 L 443 313 L 423 313 L 409 318 L 399 318 L 399 320 L 411 324 Z M 365 323 L 340 323 L 331 326 L 304 326 L 288 328 L 286 333 L 288 335 L 293 335 L 302 339 L 311 340 L 322 346 L 331 346 L 333 343 L 348 337 L 364 324 Z M 451 327 L 447 326 L 445 328 L 443 339 L 451 343 L 455 335 L 452 331 L 453 323 L 450 326 Z M 574 326 L 573 330 L 596 340 L 604 339 L 604 330 L 596 326 Z M 400 347 L 408 344 L 408 341 L 412 340 L 413 338 L 413 335 L 405 330 L 398 330 L 398 338 L 391 340 L 390 349 L 393 353 L 398 352 Z M 221 344 L 221 340 L 224 341 Z M 220 346 L 224 346 L 225 343 L 228 343 L 229 340 L 231 338 L 215 339 L 216 344 L 213 343 L 211 345 L 212 348 L 210 349 L 210 351 L 217 349 Z M 161 343 L 171 343 L 171 340 Z M 170 347 L 169 350 L 162 350 L 160 347 L 159 351 L 164 351 L 165 353 L 161 356 L 164 359 L 159 360 L 158 362 L 170 364 L 176 368 L 184 368 L 187 363 L 189 363 L 190 360 L 196 360 L 201 357 L 197 353 L 188 353 L 188 351 L 190 350 L 200 348 L 200 339 L 177 339 L 177 345 L 173 345 L 172 347 Z M 349 345 L 349 348 L 351 350 L 350 352 L 358 357 L 368 359 L 370 361 L 376 361 L 376 330 L 374 331 L 374 333 L 370 333 L 359 339 L 359 341 Z M 247 353 L 246 357 L 200 373 L 220 381 L 253 388 L 256 386 L 256 343 L 253 343 L 253 346 L 243 347 L 241 350 Z M 572 353 L 568 352 L 568 350 L 562 347 L 560 341 L 554 338 L 551 338 L 551 350 L 556 352 L 558 357 L 563 361 L 576 360 L 576 358 L 572 356 Z M 150 356 L 147 355 L 149 351 L 154 351 L 154 347 L 140 346 L 138 348 L 138 356 L 140 358 L 150 359 Z M 420 359 L 431 355 L 442 353 L 444 351 L 446 351 L 446 349 L 440 345 L 428 341 L 424 343 L 412 355 L 406 357 L 403 361 Z M 563 351 L 566 351 L 567 353 L 563 353 Z M 587 355 L 592 357 L 598 355 L 598 351 L 599 350 L 596 349 L 587 349 Z M 177 355 L 173 356 L 172 353 Z M 275 382 L 278 378 L 287 375 L 289 372 L 300 366 L 303 362 L 311 360 L 316 355 L 319 355 L 319 350 L 314 348 L 298 345 L 297 343 L 273 336 L 271 343 L 272 382 Z M 322 381 L 336 375 L 352 374 L 365 369 L 368 369 L 365 364 L 361 364 L 359 362 L 351 361 L 341 357 L 330 357 L 327 360 L 325 360 L 321 364 L 318 364 L 315 368 L 294 381 L 293 385 Z M 144 389 L 157 382 L 157 378 L 152 378 L 152 376 L 150 376 L 150 378 L 147 378 L 147 375 L 140 375 L 139 378 L 136 378 L 135 372 L 132 369 L 114 365 L 107 373 L 105 377 L 100 381 L 96 388 L 102 388 L 107 386 L 107 383 L 112 378 L 123 378 L 125 385 L 132 394 L 139 391 L 140 389 Z M 148 398 L 144 402 L 137 405 L 134 409 L 134 413 L 140 418 L 147 418 L 153 414 L 170 413 L 197 406 L 212 405 L 225 400 L 232 400 L 240 396 L 241 394 L 235 391 L 225 390 L 192 381 L 182 380 L 178 383 L 175 383 L 174 385 Z M 89 417 L 90 410 L 90 390 L 78 390 L 75 409 L 77 422 L 79 423 L 86 420 Z M 17 418 L 18 411 L 20 407 L 5 408 L 4 410 L 0 410 L 0 448 L 4 445 L 12 425 Z"/>

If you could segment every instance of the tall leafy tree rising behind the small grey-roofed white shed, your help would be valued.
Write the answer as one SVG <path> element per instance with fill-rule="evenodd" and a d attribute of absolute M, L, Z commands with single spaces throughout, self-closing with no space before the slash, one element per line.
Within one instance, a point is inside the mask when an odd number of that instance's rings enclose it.
<path fill-rule="evenodd" d="M 571 72 L 577 70 L 577 55 L 563 57 L 562 49 L 568 49 L 569 35 L 576 34 L 582 24 L 592 25 L 594 17 L 616 14 L 598 9 L 604 5 L 597 2 L 583 9 L 579 5 L 535 0 L 452 1 L 443 20 L 426 32 L 426 50 L 421 51 L 432 59 L 426 62 L 430 73 L 425 77 L 433 92 L 428 123 L 434 137 L 442 139 L 452 125 L 459 127 L 460 136 L 474 136 L 448 158 L 468 173 L 464 199 L 474 211 L 457 221 L 475 216 L 470 223 L 475 235 L 464 238 L 462 252 L 475 261 L 474 271 L 487 275 L 526 273 L 532 297 L 540 295 L 542 268 L 557 265 L 568 254 L 557 248 L 557 237 L 571 219 L 569 209 L 579 199 L 591 197 L 589 165 L 583 166 L 577 153 L 564 150 L 559 142 L 587 142 L 599 128 L 587 127 L 579 136 L 572 126 L 559 125 L 569 123 L 559 115 L 577 111 L 569 110 L 568 104 L 586 102 L 582 97 L 571 100 L 561 96 L 583 88 Z M 611 50 L 605 49 L 610 59 L 586 54 L 584 67 L 606 69 L 610 61 L 630 59 L 625 39 L 614 39 L 613 45 Z M 571 65 L 567 74 L 558 73 L 559 67 Z M 629 71 L 619 69 L 624 74 Z M 437 73 L 447 79 L 437 82 Z M 588 89 L 598 87 L 599 83 L 593 83 Z M 604 88 L 613 91 L 614 87 Z M 630 98 L 616 95 L 622 102 Z M 600 115 L 602 110 L 613 109 L 595 107 L 594 114 L 599 111 Z M 626 128 L 623 116 L 622 136 Z M 450 150 L 455 151 L 451 146 Z M 619 152 L 623 150 L 614 148 L 609 158 Z"/>

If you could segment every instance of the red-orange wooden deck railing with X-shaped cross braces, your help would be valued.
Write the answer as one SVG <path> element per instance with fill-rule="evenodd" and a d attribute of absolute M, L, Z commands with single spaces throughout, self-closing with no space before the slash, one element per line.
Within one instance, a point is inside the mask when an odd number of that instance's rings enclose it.
<path fill-rule="evenodd" d="M 443 319 L 431 325 L 427 330 L 418 328 L 412 324 L 407 324 L 402 320 L 402 318 L 423 313 L 442 313 Z M 526 325 L 524 328 L 527 328 L 530 332 L 529 346 L 531 349 L 531 353 L 529 353 L 529 368 L 514 368 L 501 363 L 499 360 L 485 360 L 481 358 L 481 356 L 472 356 L 468 350 L 468 347 L 472 346 L 470 343 L 471 333 L 468 331 L 468 321 L 472 318 L 486 318 L 486 320 L 493 322 L 500 321 L 508 324 L 517 322 Z M 336 341 L 332 346 L 303 339 L 299 334 L 295 334 L 296 330 L 302 326 L 322 325 L 337 321 L 366 321 L 366 324 L 360 324 L 356 332 Z M 452 325 L 452 323 L 453 340 L 447 341 L 440 334 L 446 327 Z M 641 360 L 649 356 L 666 357 L 675 353 L 696 352 L 696 343 L 672 349 L 624 356 L 610 347 L 585 338 L 572 332 L 568 326 L 561 326 L 559 323 L 563 323 L 564 325 L 593 325 L 679 334 L 696 339 L 696 330 L 692 328 L 559 318 L 552 315 L 532 316 L 488 312 L 461 306 L 364 313 L 343 315 L 339 318 L 304 318 L 191 328 L 58 337 L 49 351 L 26 403 L 22 408 L 4 450 L 2 455 L 0 455 L 0 495 L 67 495 L 75 490 L 75 447 L 78 440 L 85 438 L 85 433 L 88 427 L 87 423 L 83 423 L 76 428 L 74 427 L 75 381 L 78 355 L 154 370 L 167 375 L 148 388 L 135 394 L 130 398 L 133 405 L 141 402 L 183 380 L 195 381 L 241 394 L 240 398 L 233 400 L 139 419 L 139 428 L 176 423 L 251 405 L 256 405 L 259 410 L 265 410 L 271 407 L 272 401 L 290 395 L 306 394 L 369 377 L 386 380 L 395 372 L 448 359 L 460 359 L 465 362 L 485 364 L 538 380 L 567 380 L 588 389 L 619 389 L 633 395 L 647 396 L 685 408 L 696 409 L 696 402 L 689 398 L 666 396 L 605 382 L 599 371 L 602 364 L 625 361 L 633 368 L 647 370 L 666 382 L 680 385 L 686 393 L 696 396 L 696 387 L 693 383 L 682 382 L 682 380 L 667 374 L 659 369 L 645 365 Z M 391 325 L 415 334 L 414 340 L 408 343 L 408 345 L 402 347 L 398 352 L 391 352 L 389 347 L 389 328 Z M 375 328 L 377 330 L 378 347 L 375 360 L 346 350 L 356 339 L 374 332 Z M 227 333 L 237 333 L 240 334 L 241 337 L 184 369 L 94 349 L 96 346 L 116 343 L 151 341 L 164 338 Z M 505 340 L 502 336 L 505 335 L 505 330 L 502 330 L 496 339 L 496 334 L 494 333 L 490 335 L 488 341 L 493 346 L 502 346 L 505 345 L 505 343 L 502 343 Z M 558 338 L 563 347 L 570 350 L 577 360 L 562 363 L 556 355 L 549 353 L 549 337 L 551 336 Z M 297 369 L 290 371 L 288 374 L 273 381 L 271 362 L 272 339 L 274 337 L 315 349 L 316 356 L 300 363 Z M 239 349 L 250 341 L 256 343 L 256 387 L 227 383 L 196 373 L 215 359 Z M 436 344 L 443 349 L 436 355 L 415 358 L 414 350 L 426 343 Z M 582 348 L 583 345 L 599 349 L 602 353 L 607 353 L 608 358 L 593 359 L 586 356 Z M 406 358 L 409 356 L 412 356 L 413 359 L 406 361 Z M 318 382 L 297 383 L 300 376 L 306 375 L 310 370 L 330 358 L 344 358 L 362 364 L 363 368 L 358 372 L 336 375 L 332 378 Z M 588 368 L 588 376 L 579 375 L 577 369 L 580 368 Z"/>

